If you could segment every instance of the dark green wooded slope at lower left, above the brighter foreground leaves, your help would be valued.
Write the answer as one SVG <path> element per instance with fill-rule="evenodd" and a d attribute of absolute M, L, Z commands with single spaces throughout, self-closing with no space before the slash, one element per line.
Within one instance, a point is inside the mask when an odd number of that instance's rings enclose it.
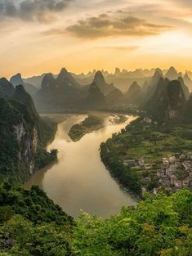
<path fill-rule="evenodd" d="M 56 222 L 63 225 L 66 220 L 71 220 L 38 186 L 26 191 L 21 186 L 4 182 L 0 186 L 0 204 L 2 216 L 3 207 L 11 206 L 13 213 L 34 223 Z"/>

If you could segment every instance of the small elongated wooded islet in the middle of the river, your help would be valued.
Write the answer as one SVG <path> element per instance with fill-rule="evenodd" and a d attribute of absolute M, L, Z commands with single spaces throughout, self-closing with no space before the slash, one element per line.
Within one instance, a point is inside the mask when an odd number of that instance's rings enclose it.
<path fill-rule="evenodd" d="M 69 130 L 69 137 L 73 141 L 79 141 L 85 134 L 97 131 L 104 127 L 104 119 L 89 115 L 80 124 L 74 124 Z"/>

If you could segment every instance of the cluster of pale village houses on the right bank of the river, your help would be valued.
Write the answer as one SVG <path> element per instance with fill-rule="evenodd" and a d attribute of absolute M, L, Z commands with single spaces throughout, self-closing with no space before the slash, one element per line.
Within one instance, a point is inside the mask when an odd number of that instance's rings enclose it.
<path fill-rule="evenodd" d="M 123 164 L 141 173 L 143 192 L 155 179 L 159 185 L 153 188 L 154 195 L 159 189 L 165 188 L 170 193 L 181 190 L 184 186 L 192 190 L 192 152 L 176 153 L 170 157 L 163 157 L 161 163 L 148 163 L 145 157 L 140 159 L 123 159 Z"/>

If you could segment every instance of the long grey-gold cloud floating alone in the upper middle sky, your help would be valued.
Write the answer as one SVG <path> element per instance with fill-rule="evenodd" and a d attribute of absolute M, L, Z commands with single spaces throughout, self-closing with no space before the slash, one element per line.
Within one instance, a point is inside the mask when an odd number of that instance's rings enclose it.
<path fill-rule="evenodd" d="M 101 14 L 86 20 L 78 20 L 66 28 L 70 34 L 79 38 L 105 38 L 109 36 L 147 36 L 160 34 L 172 29 L 171 26 L 153 24 L 148 20 L 118 11 L 112 15 Z M 60 32 L 62 32 L 60 30 Z M 57 31 L 59 33 L 59 31 Z"/>

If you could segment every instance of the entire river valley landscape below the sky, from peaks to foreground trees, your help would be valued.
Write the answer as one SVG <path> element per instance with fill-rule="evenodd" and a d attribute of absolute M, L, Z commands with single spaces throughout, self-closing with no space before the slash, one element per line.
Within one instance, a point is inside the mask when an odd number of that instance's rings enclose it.
<path fill-rule="evenodd" d="M 0 79 L 1 255 L 190 255 L 184 77 L 156 69 L 121 92 L 62 69 L 33 98 L 12 83 Z"/>

